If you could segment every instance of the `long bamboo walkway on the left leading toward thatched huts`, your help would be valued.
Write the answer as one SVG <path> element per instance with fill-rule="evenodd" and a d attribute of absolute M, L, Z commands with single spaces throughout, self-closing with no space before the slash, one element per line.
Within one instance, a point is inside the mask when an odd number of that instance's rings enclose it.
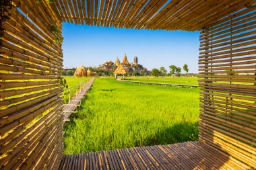
<path fill-rule="evenodd" d="M 73 113 L 75 113 L 76 108 L 78 106 L 80 106 L 80 102 L 82 101 L 82 99 L 84 98 L 84 95 L 86 95 L 86 92 L 90 89 L 90 87 L 92 87 L 92 83 L 94 82 L 94 78 L 90 79 L 86 85 L 84 85 L 81 89 L 81 91 L 79 91 L 77 93 L 77 95 L 75 95 L 74 97 L 72 97 L 71 101 L 69 101 L 69 103 L 64 104 L 64 108 L 63 108 L 63 114 L 64 114 L 64 122 L 69 121 L 69 116 Z"/>

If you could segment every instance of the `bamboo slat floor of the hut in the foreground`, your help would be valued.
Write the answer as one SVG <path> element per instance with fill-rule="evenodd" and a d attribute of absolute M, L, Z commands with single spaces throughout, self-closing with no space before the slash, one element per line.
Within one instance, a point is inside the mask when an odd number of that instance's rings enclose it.
<path fill-rule="evenodd" d="M 59 169 L 243 169 L 201 142 L 66 155 Z"/>

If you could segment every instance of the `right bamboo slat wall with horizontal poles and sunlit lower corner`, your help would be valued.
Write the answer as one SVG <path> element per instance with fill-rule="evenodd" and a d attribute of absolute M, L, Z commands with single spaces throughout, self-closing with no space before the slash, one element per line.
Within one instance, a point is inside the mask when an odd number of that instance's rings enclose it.
<path fill-rule="evenodd" d="M 256 168 L 256 6 L 200 35 L 199 140 Z M 243 167 L 245 169 L 245 167 Z"/>

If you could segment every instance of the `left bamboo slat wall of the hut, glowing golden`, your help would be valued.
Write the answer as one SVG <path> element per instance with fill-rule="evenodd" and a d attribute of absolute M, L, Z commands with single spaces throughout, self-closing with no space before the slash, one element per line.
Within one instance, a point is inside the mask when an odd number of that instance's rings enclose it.
<path fill-rule="evenodd" d="M 63 155 L 61 19 L 46 1 L 13 3 L 1 23 L 0 169 L 55 169 Z"/>

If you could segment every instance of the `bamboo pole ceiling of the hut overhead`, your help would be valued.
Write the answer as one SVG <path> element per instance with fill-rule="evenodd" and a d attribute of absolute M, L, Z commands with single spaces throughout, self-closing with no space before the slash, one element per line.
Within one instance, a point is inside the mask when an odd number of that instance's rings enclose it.
<path fill-rule="evenodd" d="M 63 22 L 150 30 L 201 30 L 252 0 L 57 0 Z"/>

